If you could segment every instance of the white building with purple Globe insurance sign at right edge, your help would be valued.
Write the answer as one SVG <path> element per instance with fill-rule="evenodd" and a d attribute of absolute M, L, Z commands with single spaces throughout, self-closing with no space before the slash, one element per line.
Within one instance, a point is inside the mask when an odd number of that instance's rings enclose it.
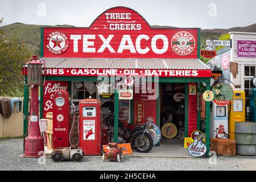
<path fill-rule="evenodd" d="M 237 63 L 237 75 L 230 73 L 234 90 L 245 91 L 246 106 L 249 106 L 249 90 L 253 88 L 251 78 L 256 75 L 256 33 L 229 32 L 232 39 L 230 61 Z M 247 108 L 249 112 L 249 108 Z"/>

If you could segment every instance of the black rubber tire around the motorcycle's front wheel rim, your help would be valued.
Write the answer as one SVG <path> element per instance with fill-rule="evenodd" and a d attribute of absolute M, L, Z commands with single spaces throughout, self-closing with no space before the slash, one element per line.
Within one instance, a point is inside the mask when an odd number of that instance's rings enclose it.
<path fill-rule="evenodd" d="M 133 143 L 135 145 L 137 145 L 137 143 L 140 142 L 139 138 L 141 138 L 141 136 L 143 135 L 143 132 L 144 131 L 141 131 L 134 135 L 135 140 Z M 145 142 L 145 139 L 147 140 L 147 142 Z M 147 152 L 151 151 L 152 147 L 154 146 L 154 141 L 149 133 L 146 133 L 146 132 L 144 133 L 142 142 L 144 142 L 143 148 L 135 147 L 135 150 L 137 152 L 142 152 L 142 153 L 147 153 Z"/>

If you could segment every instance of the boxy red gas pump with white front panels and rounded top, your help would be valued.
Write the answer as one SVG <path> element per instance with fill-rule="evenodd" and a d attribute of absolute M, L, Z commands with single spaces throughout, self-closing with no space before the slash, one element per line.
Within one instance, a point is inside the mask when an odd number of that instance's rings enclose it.
<path fill-rule="evenodd" d="M 79 147 L 84 155 L 101 155 L 101 103 L 96 99 L 79 102 Z"/>

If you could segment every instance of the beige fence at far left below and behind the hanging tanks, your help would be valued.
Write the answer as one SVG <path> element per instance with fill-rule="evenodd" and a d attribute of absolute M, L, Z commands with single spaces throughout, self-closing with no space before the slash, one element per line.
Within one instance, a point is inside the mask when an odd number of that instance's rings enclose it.
<path fill-rule="evenodd" d="M 3 97 L 0 97 L 0 100 Z M 5 97 L 13 98 L 13 97 Z M 23 102 L 23 97 L 19 97 Z M 2 137 L 22 137 L 23 136 L 23 108 L 19 113 L 12 113 L 9 119 L 0 114 L 0 138 Z"/>

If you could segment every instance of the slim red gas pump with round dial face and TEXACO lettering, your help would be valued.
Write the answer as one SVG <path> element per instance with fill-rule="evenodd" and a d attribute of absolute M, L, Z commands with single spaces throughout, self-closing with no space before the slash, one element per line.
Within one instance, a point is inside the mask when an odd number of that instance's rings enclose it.
<path fill-rule="evenodd" d="M 69 120 L 71 99 L 65 90 L 59 90 L 53 94 L 53 134 L 52 147 L 69 147 Z"/>

